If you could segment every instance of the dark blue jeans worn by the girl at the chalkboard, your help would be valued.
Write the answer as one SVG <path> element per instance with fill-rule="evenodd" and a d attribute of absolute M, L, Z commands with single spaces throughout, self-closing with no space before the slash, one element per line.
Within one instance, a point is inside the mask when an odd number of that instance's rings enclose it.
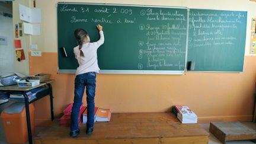
<path fill-rule="evenodd" d="M 87 127 L 94 126 L 94 97 L 96 88 L 96 72 L 82 73 L 75 78 L 75 96 L 71 113 L 71 131 L 78 129 L 79 110 L 86 87 L 87 94 Z"/>

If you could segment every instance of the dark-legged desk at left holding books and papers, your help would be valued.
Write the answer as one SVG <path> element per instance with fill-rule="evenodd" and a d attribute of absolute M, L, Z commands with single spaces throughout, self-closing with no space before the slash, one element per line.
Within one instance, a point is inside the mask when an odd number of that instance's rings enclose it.
<path fill-rule="evenodd" d="M 52 120 L 54 120 L 54 113 L 53 113 L 53 94 L 52 94 L 52 83 L 53 80 L 49 80 L 46 82 L 41 82 L 39 85 L 36 85 L 35 87 L 18 87 L 18 85 L 10 85 L 5 87 L 0 87 L 1 92 L 9 92 L 10 94 L 23 94 L 25 99 L 25 111 L 26 111 L 26 119 L 27 119 L 27 130 L 28 130 L 28 142 L 30 144 L 33 143 L 32 134 L 31 134 L 31 125 L 30 125 L 30 112 L 28 105 L 31 103 L 34 103 L 35 101 L 40 100 L 43 97 L 46 97 L 47 95 L 50 96 L 50 112 Z M 43 91 L 40 91 L 36 94 L 36 99 L 32 101 L 28 101 L 28 95 L 26 94 L 27 91 L 30 91 L 34 88 L 39 87 L 47 87 L 47 89 L 44 89 Z"/>

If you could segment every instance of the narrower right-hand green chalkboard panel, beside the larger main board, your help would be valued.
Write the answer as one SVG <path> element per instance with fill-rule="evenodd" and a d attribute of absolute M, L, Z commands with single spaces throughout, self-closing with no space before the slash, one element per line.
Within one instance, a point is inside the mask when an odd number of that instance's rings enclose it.
<path fill-rule="evenodd" d="M 242 72 L 247 12 L 189 9 L 188 62 L 192 71 Z"/>

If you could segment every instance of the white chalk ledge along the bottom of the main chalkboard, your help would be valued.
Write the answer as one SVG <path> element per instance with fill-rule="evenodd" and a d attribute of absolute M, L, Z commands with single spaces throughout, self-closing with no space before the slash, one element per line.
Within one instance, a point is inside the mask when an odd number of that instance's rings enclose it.
<path fill-rule="evenodd" d="M 74 69 L 60 69 L 59 73 L 75 73 Z M 184 75 L 185 71 L 132 71 L 132 70 L 101 70 L 100 74 L 124 75 Z"/>

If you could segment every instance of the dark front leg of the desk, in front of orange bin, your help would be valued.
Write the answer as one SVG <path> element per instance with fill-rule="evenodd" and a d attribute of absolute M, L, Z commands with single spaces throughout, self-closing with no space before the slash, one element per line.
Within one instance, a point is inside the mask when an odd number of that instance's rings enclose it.
<path fill-rule="evenodd" d="M 32 140 L 32 133 L 31 133 L 31 125 L 30 125 L 30 111 L 29 111 L 29 105 L 28 105 L 28 96 L 25 92 L 23 92 L 23 96 L 25 98 L 25 110 L 26 110 L 27 129 L 28 129 L 28 142 L 30 144 L 32 144 L 33 140 Z"/>

